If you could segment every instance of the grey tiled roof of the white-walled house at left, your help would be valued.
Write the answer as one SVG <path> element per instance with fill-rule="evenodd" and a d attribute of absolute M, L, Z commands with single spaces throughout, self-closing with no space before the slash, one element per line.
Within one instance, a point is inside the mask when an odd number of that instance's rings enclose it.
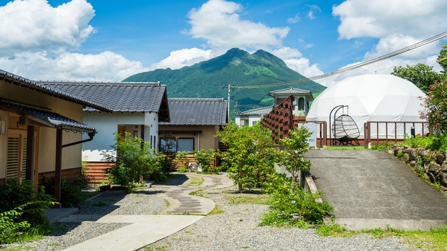
<path fill-rule="evenodd" d="M 95 101 L 114 112 L 159 112 L 163 95 L 166 93 L 166 86 L 160 85 L 159 82 L 45 81 L 41 83 Z"/>

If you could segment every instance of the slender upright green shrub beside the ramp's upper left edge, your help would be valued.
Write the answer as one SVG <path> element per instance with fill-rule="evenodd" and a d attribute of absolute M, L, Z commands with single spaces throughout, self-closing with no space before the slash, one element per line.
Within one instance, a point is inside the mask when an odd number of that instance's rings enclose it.
<path fill-rule="evenodd" d="M 292 181 L 297 182 L 299 170 L 309 171 L 310 161 L 304 158 L 304 153 L 308 151 L 308 137 L 312 134 L 304 126 L 294 128 L 289 131 L 289 137 L 281 139 L 281 144 L 286 150 L 277 153 L 279 165 L 284 165 L 287 171 L 292 174 Z"/>

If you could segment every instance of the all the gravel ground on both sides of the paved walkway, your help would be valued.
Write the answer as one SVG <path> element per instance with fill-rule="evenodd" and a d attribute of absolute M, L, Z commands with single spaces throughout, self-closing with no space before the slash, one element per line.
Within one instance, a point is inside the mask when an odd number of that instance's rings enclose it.
<path fill-rule="evenodd" d="M 185 176 L 171 180 L 182 184 Z M 157 193 L 166 190 L 157 187 L 126 194 L 109 191 L 89 201 L 78 214 L 88 215 L 151 215 L 163 211 L 165 201 Z M 222 193 L 223 191 L 223 193 Z M 397 238 L 371 239 L 369 235 L 350 238 L 320 237 L 313 229 L 271 228 L 258 226 L 268 206 L 262 204 L 229 204 L 234 189 L 204 189 L 205 197 L 214 200 L 224 213 L 209 215 L 200 221 L 152 243 L 141 250 L 414 250 Z M 257 196 L 237 193 L 237 196 Z M 101 204 L 102 206 L 98 206 Z M 94 206 L 97 205 L 97 206 Z M 76 243 L 91 239 L 127 224 L 61 224 L 68 232 L 58 231 L 40 241 L 1 246 L 10 250 L 63 250 Z"/>

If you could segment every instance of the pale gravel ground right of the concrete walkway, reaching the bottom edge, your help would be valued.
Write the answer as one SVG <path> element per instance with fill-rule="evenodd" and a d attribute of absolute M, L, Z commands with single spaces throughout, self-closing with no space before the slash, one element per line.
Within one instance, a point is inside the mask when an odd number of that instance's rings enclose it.
<path fill-rule="evenodd" d="M 222 190 L 225 193 L 222 193 Z M 320 237 L 313 229 L 258 226 L 268 206 L 228 204 L 236 190 L 206 189 L 224 213 L 200 221 L 141 250 L 409 250 L 397 238 L 372 239 L 370 235 L 350 238 Z M 237 196 L 256 196 L 240 194 Z M 140 251 L 141 251 L 140 250 Z M 415 248 L 411 248 L 415 250 Z"/>

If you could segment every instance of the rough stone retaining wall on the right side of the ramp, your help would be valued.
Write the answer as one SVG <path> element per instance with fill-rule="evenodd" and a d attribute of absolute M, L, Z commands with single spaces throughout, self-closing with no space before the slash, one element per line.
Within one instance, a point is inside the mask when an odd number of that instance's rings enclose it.
<path fill-rule="evenodd" d="M 412 148 L 408 145 L 393 145 L 388 152 L 402 158 L 417 174 L 424 176 L 433 184 L 439 184 L 441 191 L 447 191 L 447 151 L 433 152 L 424 148 Z"/>

